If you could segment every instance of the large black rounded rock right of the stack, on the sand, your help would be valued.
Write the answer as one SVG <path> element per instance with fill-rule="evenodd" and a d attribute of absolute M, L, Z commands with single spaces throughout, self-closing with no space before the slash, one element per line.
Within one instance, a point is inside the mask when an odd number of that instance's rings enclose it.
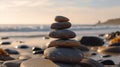
<path fill-rule="evenodd" d="M 84 36 L 79 41 L 86 46 L 102 46 L 104 44 L 104 41 L 101 38 L 95 36 Z"/>

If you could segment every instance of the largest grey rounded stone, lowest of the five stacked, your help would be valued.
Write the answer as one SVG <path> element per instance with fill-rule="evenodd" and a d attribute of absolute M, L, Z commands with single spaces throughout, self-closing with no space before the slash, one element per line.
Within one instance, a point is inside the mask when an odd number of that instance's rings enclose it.
<path fill-rule="evenodd" d="M 83 58 L 83 53 L 79 49 L 50 47 L 44 51 L 47 59 L 63 63 L 79 63 Z"/>

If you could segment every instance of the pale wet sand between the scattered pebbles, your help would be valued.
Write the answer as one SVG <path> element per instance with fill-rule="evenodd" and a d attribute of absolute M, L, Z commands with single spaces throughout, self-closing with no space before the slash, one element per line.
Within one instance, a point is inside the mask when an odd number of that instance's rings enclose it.
<path fill-rule="evenodd" d="M 78 38 L 78 37 L 77 37 Z M 75 38 L 75 39 L 77 39 Z M 13 55 L 11 54 L 10 56 L 15 58 L 15 59 L 19 59 L 20 56 L 24 56 L 24 57 L 27 57 L 27 58 L 37 58 L 37 57 L 42 57 L 41 54 L 37 54 L 37 55 L 34 55 L 32 53 L 32 47 L 34 46 L 37 46 L 37 47 L 40 47 L 42 48 L 43 50 L 47 48 L 47 43 L 49 43 L 51 40 L 53 40 L 52 38 L 50 39 L 44 39 L 43 37 L 38 37 L 38 38 L 27 38 L 27 39 L 7 39 L 7 40 L 1 40 L 1 41 L 11 41 L 11 44 L 10 45 L 1 45 L 0 47 L 3 48 L 3 49 L 6 49 L 6 48 L 9 48 L 9 49 L 14 49 L 14 50 L 17 50 L 20 54 L 16 54 L 16 55 Z M 15 46 L 18 46 L 18 45 L 28 45 L 29 48 L 27 49 L 18 49 L 18 48 L 15 48 Z M 112 60 L 114 61 L 114 63 L 116 64 L 116 66 L 105 66 L 105 67 L 117 67 L 117 65 L 120 63 L 120 55 L 118 56 L 111 56 L 111 57 L 104 57 L 103 56 L 105 54 L 100 54 L 100 53 L 96 53 L 96 55 L 91 55 L 92 53 L 94 53 L 93 51 L 89 51 L 87 54 L 89 58 L 92 58 L 96 61 L 99 61 L 99 60 Z M 4 61 L 2 61 L 4 62 Z M 2 64 L 2 63 L 1 63 Z"/>

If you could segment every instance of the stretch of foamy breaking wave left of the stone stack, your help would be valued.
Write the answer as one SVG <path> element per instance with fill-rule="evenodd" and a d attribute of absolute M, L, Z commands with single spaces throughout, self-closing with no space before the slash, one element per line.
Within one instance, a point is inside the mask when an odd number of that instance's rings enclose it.
<path fill-rule="evenodd" d="M 0 32 L 31 32 L 31 31 L 49 31 L 47 25 L 1 25 Z"/>

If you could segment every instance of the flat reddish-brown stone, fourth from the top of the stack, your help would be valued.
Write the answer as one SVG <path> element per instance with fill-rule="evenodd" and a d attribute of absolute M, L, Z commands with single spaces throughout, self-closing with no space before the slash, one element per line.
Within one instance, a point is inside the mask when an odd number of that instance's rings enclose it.
<path fill-rule="evenodd" d="M 53 40 L 48 47 L 79 47 L 80 43 L 76 40 Z"/>

